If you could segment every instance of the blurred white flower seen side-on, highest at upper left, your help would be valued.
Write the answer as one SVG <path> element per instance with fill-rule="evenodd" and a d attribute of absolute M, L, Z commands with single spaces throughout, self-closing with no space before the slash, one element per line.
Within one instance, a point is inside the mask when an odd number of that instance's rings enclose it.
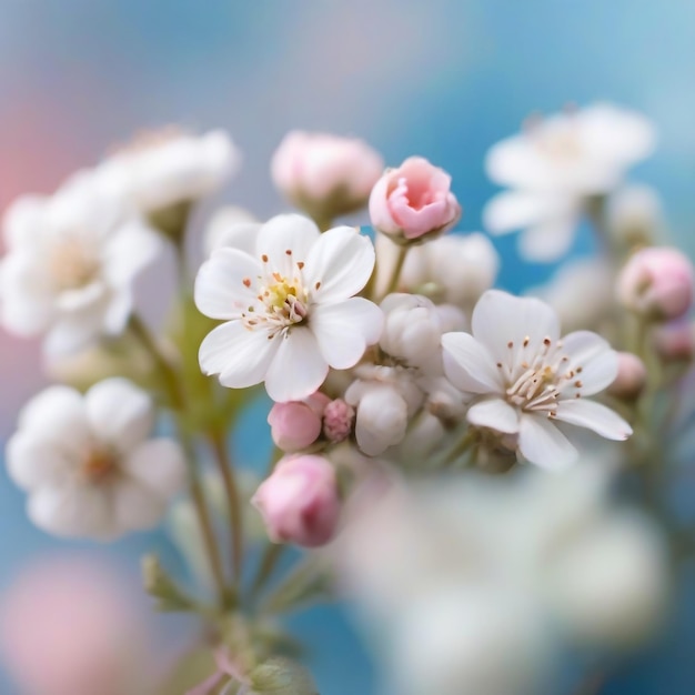
<path fill-rule="evenodd" d="M 209 195 L 236 171 L 240 161 L 224 131 L 191 135 L 165 130 L 135 141 L 105 160 L 95 173 L 105 193 L 150 213 Z"/>

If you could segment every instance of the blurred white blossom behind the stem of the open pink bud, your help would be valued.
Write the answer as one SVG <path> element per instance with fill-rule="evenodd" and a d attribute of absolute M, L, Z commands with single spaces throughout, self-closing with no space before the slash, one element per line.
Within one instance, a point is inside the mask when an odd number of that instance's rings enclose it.
<path fill-rule="evenodd" d="M 383 234 L 376 236 L 377 289 L 385 285 L 397 246 Z M 409 250 L 399 291 L 424 294 L 435 304 L 453 304 L 471 311 L 500 270 L 500 256 L 480 232 L 450 234 Z"/>

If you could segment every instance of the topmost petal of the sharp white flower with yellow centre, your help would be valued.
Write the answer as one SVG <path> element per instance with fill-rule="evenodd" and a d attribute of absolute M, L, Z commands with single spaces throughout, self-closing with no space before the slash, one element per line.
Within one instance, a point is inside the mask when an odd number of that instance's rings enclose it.
<path fill-rule="evenodd" d="M 291 275 L 292 262 L 306 262 L 311 248 L 321 238 L 319 228 L 301 214 L 279 214 L 258 232 L 255 255 L 266 255 L 273 270 Z M 292 251 L 288 255 L 286 251 Z"/>

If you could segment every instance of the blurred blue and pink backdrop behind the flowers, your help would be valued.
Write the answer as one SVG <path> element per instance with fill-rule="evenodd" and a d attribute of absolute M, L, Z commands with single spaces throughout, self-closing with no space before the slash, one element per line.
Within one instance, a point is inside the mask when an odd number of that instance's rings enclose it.
<path fill-rule="evenodd" d="M 0 0 L 0 211 L 19 194 L 51 192 L 132 134 L 175 123 L 231 132 L 244 162 L 219 199 L 266 218 L 284 208 L 270 157 L 301 128 L 360 135 L 390 164 L 429 158 L 453 175 L 461 229 L 474 230 L 495 190 L 483 171 L 491 144 L 531 112 L 610 100 L 654 120 L 659 148 L 634 177 L 661 191 L 674 236 L 693 252 L 694 83 L 692 0 Z M 552 271 L 518 264 L 513 238 L 497 248 L 507 289 Z M 574 252 L 588 251 L 580 238 Z M 4 439 L 44 376 L 38 345 L 2 335 L 0 354 Z M 29 525 L 4 474 L 0 515 L 0 587 L 37 556 L 66 548 L 108 558 L 135 595 L 144 550 L 154 543 L 177 562 L 157 534 L 105 548 L 59 545 Z M 695 620 L 688 611 L 684 629 Z M 372 692 L 349 620 L 322 610 L 298 627 L 315 646 L 322 695 Z M 177 632 L 163 621 L 154 629 L 162 642 Z M 603 692 L 692 693 L 694 632 L 639 658 Z M 4 681 L 0 692 L 16 693 Z"/>

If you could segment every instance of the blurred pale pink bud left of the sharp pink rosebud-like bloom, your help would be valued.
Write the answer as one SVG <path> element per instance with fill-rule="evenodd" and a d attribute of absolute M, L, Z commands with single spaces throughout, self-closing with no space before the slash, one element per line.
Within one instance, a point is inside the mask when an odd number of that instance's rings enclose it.
<path fill-rule="evenodd" d="M 360 210 L 384 169 L 374 149 L 356 138 L 291 131 L 271 161 L 280 191 L 315 220 Z"/>

